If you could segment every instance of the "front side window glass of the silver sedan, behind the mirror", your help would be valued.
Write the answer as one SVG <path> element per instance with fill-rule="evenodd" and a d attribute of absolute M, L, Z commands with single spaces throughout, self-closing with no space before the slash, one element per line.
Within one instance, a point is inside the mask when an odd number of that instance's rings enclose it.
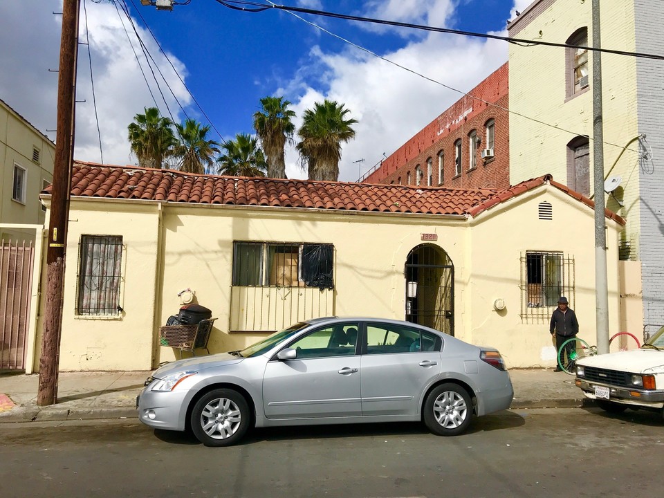
<path fill-rule="evenodd" d="M 328 358 L 356 353 L 357 324 L 335 324 L 299 338 L 288 347 L 297 351 L 297 358 Z"/>

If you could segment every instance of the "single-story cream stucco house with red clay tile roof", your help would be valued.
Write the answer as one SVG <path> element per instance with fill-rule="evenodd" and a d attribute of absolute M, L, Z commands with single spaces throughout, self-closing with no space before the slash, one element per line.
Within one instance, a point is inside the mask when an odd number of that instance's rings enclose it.
<path fill-rule="evenodd" d="M 216 318 L 212 353 L 309 317 L 369 315 L 490 344 L 509 367 L 552 367 L 548 322 L 560 295 L 580 337 L 596 335 L 593 204 L 551 176 L 454 190 L 77 163 L 71 193 L 63 371 L 177 358 L 159 330 L 187 289 Z M 42 199 L 48 207 L 48 190 Z M 617 323 L 624 221 L 606 214 Z M 28 372 L 41 331 L 39 320 Z"/>

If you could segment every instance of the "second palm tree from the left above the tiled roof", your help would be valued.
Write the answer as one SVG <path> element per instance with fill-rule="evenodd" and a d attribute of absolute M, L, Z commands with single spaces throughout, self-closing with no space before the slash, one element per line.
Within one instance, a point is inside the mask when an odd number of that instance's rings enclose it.
<path fill-rule="evenodd" d="M 178 158 L 178 169 L 187 173 L 205 173 L 212 168 L 215 155 L 219 154 L 218 142 L 208 140 L 209 126 L 201 126 L 201 123 L 187 118 L 185 124 L 176 124 L 176 130 L 180 137 L 179 142 L 173 147 L 173 156 Z"/>

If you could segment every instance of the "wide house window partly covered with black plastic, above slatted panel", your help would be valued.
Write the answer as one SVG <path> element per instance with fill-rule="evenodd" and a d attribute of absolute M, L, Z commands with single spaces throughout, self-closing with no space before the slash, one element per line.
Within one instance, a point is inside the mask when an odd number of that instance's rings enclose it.
<path fill-rule="evenodd" d="M 315 243 L 233 243 L 233 285 L 333 288 L 333 246 Z"/>

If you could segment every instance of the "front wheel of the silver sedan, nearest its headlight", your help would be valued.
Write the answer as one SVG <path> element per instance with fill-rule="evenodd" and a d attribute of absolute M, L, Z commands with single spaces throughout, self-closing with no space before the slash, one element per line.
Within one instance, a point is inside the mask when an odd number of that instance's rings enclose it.
<path fill-rule="evenodd" d="M 232 389 L 214 389 L 196 401 L 191 425 L 196 439 L 205 446 L 230 446 L 247 432 L 249 406 Z"/>

